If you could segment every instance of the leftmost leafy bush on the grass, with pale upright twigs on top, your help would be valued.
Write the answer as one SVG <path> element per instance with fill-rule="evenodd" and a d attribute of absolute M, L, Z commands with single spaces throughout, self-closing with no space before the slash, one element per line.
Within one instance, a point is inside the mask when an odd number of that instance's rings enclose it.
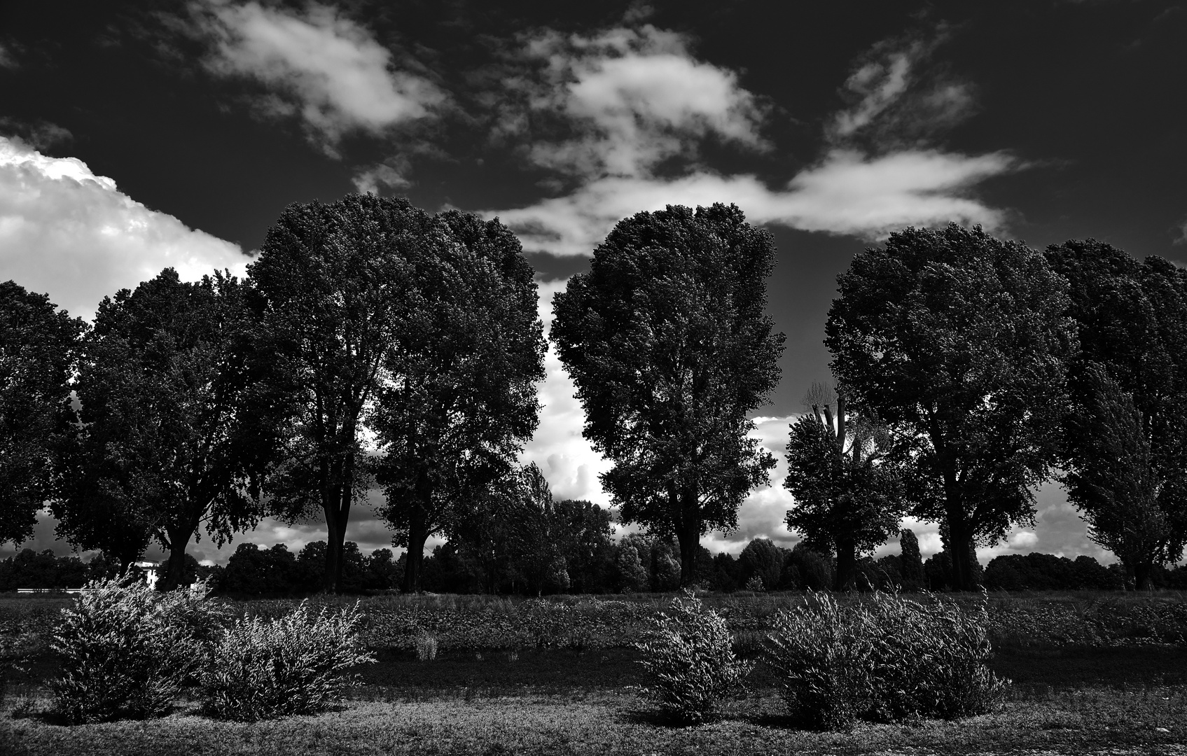
<path fill-rule="evenodd" d="M 53 633 L 56 711 L 70 723 L 164 714 L 218 623 L 205 584 L 167 593 L 133 579 L 88 587 Z"/>

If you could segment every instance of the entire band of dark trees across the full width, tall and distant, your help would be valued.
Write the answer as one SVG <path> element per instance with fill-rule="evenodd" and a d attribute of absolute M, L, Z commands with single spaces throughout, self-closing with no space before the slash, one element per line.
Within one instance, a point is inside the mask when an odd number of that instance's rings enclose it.
<path fill-rule="evenodd" d="M 703 583 L 717 558 L 702 538 L 736 528 L 775 465 L 750 436 L 783 352 L 764 313 L 774 256 L 736 207 L 673 205 L 621 221 L 553 299 L 584 436 L 611 463 L 602 487 L 623 525 L 674 548 L 635 549 L 648 586 L 668 559 L 678 585 Z M 1124 585 L 1182 557 L 1187 271 L 1092 240 L 1039 252 L 908 228 L 838 277 L 825 344 L 836 382 L 805 396 L 783 485 L 827 586 L 891 573 L 868 555 L 906 516 L 938 523 L 944 549 L 904 584 L 984 584 L 976 548 L 1033 526 L 1052 478 Z M 164 548 L 169 589 L 191 541 L 318 517 L 309 574 L 341 591 L 350 512 L 381 490 L 405 591 L 620 590 L 634 571 L 605 510 L 553 501 L 516 464 L 546 343 L 497 220 L 370 195 L 294 204 L 245 280 L 166 268 L 104 298 L 94 325 L 2 284 L 0 347 L 0 541 L 28 538 L 47 502 L 59 536 L 121 567 Z M 446 541 L 433 557 L 430 538 Z M 818 577 L 767 552 L 740 587 Z"/>

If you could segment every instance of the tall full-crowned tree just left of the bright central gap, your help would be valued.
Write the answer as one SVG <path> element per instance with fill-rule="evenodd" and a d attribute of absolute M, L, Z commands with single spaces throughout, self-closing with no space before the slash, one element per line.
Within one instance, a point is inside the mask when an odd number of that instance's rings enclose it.
<path fill-rule="evenodd" d="M 535 431 L 546 345 L 532 267 L 497 220 L 444 212 L 410 263 L 413 293 L 370 423 L 381 515 L 408 549 L 414 591 L 427 538 L 456 531 L 459 508 L 510 474 Z"/>

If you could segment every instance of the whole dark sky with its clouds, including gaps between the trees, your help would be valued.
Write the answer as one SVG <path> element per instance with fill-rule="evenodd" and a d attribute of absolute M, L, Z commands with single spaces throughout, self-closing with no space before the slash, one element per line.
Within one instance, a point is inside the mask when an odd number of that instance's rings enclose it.
<path fill-rule="evenodd" d="M 166 266 L 242 275 L 286 205 L 370 191 L 501 218 L 547 326 L 618 220 L 732 202 L 779 248 L 768 312 L 787 349 L 754 414 L 780 464 L 740 528 L 703 542 L 788 546 L 787 427 L 830 380 L 824 324 L 852 256 L 954 221 L 1182 265 L 1185 95 L 1187 2 L 1172 0 L 5 2 L 0 280 L 89 319 Z M 556 496 L 609 504 L 572 382 L 554 351 L 546 364 L 522 460 Z M 1036 504 L 1036 526 L 982 561 L 1112 561 L 1056 483 Z M 934 523 L 904 526 L 940 548 Z M 266 520 L 235 544 L 323 538 Z M 367 506 L 347 538 L 391 544 Z M 235 544 L 190 551 L 224 561 Z M 21 547 L 70 551 L 47 515 Z"/>

